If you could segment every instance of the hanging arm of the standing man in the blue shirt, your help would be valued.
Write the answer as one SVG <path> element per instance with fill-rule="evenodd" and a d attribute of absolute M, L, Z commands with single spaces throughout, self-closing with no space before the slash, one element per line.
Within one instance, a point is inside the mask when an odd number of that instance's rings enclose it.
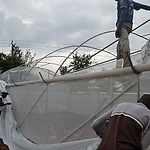
<path fill-rule="evenodd" d="M 121 28 L 122 28 L 122 25 L 124 23 L 126 14 L 127 14 L 127 9 L 126 8 L 122 8 L 120 21 L 119 21 L 119 23 L 117 25 L 117 30 L 116 30 L 116 33 L 115 33 L 116 38 L 119 38 L 121 36 Z"/>

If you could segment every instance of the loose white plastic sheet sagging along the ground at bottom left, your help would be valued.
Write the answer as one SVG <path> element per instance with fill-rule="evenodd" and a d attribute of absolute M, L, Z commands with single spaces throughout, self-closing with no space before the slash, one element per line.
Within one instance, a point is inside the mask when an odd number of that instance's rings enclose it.
<path fill-rule="evenodd" d="M 0 91 L 5 91 L 5 83 L 0 81 Z M 11 102 L 10 97 L 7 101 Z M 12 106 L 6 106 L 0 118 L 0 138 L 8 145 L 10 150 L 94 150 L 100 139 L 73 141 L 60 144 L 33 144 L 17 128 L 17 122 L 12 114 Z"/>

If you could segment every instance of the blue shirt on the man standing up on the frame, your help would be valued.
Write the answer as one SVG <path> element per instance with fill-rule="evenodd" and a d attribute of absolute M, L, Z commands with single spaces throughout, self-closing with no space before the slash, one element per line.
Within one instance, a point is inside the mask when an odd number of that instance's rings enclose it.
<path fill-rule="evenodd" d="M 117 3 L 117 11 L 118 11 L 117 24 L 120 21 L 120 15 L 121 15 L 122 8 L 127 9 L 127 14 L 126 14 L 124 23 L 133 23 L 134 9 L 139 10 L 140 9 L 140 4 L 134 2 L 133 0 L 118 0 L 118 3 Z"/>

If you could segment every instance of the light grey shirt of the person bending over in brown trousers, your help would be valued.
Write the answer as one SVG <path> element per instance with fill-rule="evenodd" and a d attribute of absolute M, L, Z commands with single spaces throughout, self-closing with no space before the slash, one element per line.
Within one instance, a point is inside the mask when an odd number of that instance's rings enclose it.
<path fill-rule="evenodd" d="M 150 144 L 150 110 L 142 103 L 121 103 L 114 106 L 110 111 L 104 113 L 102 116 L 94 120 L 92 128 L 102 135 L 106 127 L 106 121 L 111 116 L 124 114 L 135 120 L 143 129 L 141 135 L 142 150 Z"/>

